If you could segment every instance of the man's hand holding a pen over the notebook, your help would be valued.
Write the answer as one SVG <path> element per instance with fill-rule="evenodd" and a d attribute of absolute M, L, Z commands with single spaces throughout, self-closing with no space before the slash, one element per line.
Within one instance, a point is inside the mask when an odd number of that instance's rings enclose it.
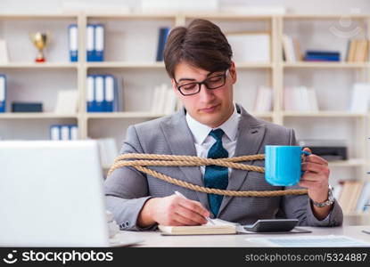
<path fill-rule="evenodd" d="M 210 212 L 201 203 L 177 195 L 151 198 L 144 204 L 138 219 L 139 227 L 154 223 L 170 226 L 201 225 L 207 223 Z"/>

